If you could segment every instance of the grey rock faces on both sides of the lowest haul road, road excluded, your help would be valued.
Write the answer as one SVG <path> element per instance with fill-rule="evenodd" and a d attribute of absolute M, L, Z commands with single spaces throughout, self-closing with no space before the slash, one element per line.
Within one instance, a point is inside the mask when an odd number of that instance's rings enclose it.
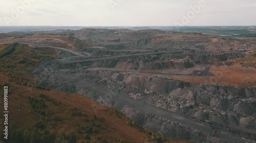
<path fill-rule="evenodd" d="M 62 81 L 56 73 L 71 73 L 111 89 L 114 92 L 125 93 L 130 98 L 150 105 L 176 112 L 188 119 L 211 126 L 214 130 L 225 131 L 248 139 L 256 138 L 256 89 L 234 88 L 222 85 L 195 84 L 161 78 L 145 76 L 119 71 L 90 70 L 80 66 L 76 70 L 58 70 L 67 65 L 58 62 L 45 63 L 47 80 L 42 84 L 50 85 L 60 91 L 78 93 L 96 100 L 102 105 L 122 110 L 128 117 L 142 124 L 144 127 L 176 138 L 194 140 L 196 142 L 225 142 L 210 136 L 210 134 L 187 127 L 168 119 L 148 115 L 136 108 L 119 104 L 88 88 Z M 49 66 L 50 65 L 50 66 Z M 80 68 L 82 67 L 82 68 Z M 39 66 L 34 74 L 41 72 Z M 40 75 L 38 75 L 40 77 Z M 166 131 L 166 128 L 168 129 Z"/>

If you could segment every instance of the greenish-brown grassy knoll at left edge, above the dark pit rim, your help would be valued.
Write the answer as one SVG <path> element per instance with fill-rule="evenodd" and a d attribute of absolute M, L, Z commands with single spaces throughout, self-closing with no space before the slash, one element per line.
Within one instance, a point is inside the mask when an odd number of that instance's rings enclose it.
<path fill-rule="evenodd" d="M 35 79 L 27 74 L 27 71 L 54 56 L 56 56 L 54 49 L 31 48 L 28 45 L 19 44 L 15 51 L 0 59 L 0 72 L 8 73 L 11 81 L 22 84 L 35 82 Z"/>

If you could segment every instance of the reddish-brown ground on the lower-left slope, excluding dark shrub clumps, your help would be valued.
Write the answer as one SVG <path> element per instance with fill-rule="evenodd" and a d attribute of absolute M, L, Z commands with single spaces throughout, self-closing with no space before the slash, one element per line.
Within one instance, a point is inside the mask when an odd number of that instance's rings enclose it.
<path fill-rule="evenodd" d="M 28 97 L 37 97 L 39 99 L 39 94 L 45 94 L 49 97 L 54 98 L 61 105 L 54 105 L 51 102 L 46 102 L 47 108 L 54 112 L 55 116 L 60 116 L 63 122 L 49 122 L 48 126 L 50 129 L 55 131 L 58 130 L 76 130 L 76 123 L 84 124 L 80 117 L 72 117 L 70 109 L 77 107 L 82 112 L 87 113 L 87 115 L 92 118 L 94 114 L 98 118 L 103 118 L 104 123 L 101 123 L 104 127 L 99 134 L 95 135 L 94 138 L 123 138 L 127 142 L 144 142 L 146 138 L 146 133 L 140 132 L 126 124 L 125 118 L 118 118 L 114 116 L 112 109 L 101 106 L 97 102 L 90 100 L 86 97 L 79 96 L 77 94 L 70 94 L 55 90 L 45 91 L 36 88 L 29 88 L 25 85 L 19 85 L 15 82 L 8 82 L 8 75 L 0 73 L 1 84 L 4 82 L 8 84 L 9 87 L 9 123 L 17 122 L 20 126 L 30 126 L 34 123 L 40 121 L 38 117 L 32 116 L 30 113 L 30 105 L 28 103 Z M 3 92 L 3 89 L 0 90 Z M 2 99 L 1 99 L 2 100 Z M 2 100 L 3 101 L 3 100 Z M 3 104 L 2 104 L 3 105 Z M 18 111 L 17 105 L 20 107 Z M 0 109 L 3 112 L 3 108 Z M 41 120 L 46 120 L 42 118 Z M 78 138 L 83 138 L 82 135 L 78 134 Z M 181 141 L 177 139 L 169 139 L 176 143 L 187 143 L 188 141 Z M 168 141 L 167 141 L 168 142 Z"/>

